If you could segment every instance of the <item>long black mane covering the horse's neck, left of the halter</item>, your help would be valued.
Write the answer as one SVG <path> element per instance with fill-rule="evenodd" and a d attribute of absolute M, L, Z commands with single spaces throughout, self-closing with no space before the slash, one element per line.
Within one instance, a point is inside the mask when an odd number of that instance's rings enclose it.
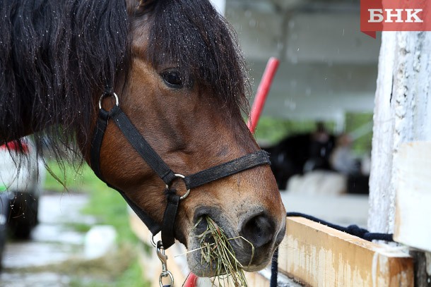
<path fill-rule="evenodd" d="M 127 71 L 124 1 L 4 0 L 0 27 L 0 142 L 87 134 L 95 90 Z"/>

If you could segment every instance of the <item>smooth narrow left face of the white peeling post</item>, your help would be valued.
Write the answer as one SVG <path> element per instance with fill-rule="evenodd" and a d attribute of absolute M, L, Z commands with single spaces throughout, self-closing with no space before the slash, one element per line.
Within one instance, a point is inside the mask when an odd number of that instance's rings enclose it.
<path fill-rule="evenodd" d="M 396 37 L 382 33 L 379 75 L 374 100 L 374 126 L 370 171 L 370 212 L 368 228 L 372 232 L 389 232 L 394 216 L 394 192 L 391 188 L 392 148 L 394 146 L 394 111 L 391 106 Z"/>

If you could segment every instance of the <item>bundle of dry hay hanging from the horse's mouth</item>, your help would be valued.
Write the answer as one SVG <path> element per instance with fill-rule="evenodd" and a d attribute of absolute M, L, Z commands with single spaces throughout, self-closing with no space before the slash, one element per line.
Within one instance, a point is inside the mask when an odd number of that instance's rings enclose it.
<path fill-rule="evenodd" d="M 199 240 L 200 248 L 190 252 L 201 252 L 201 264 L 209 267 L 211 271 L 215 271 L 215 274 L 219 274 L 213 279 L 218 283 L 218 286 L 230 286 L 230 283 L 233 286 L 248 286 L 243 266 L 235 257 L 235 251 L 230 244 L 230 240 L 242 239 L 252 246 L 250 263 L 254 256 L 253 244 L 242 236 L 228 238 L 223 229 L 209 216 L 201 217 L 196 222 L 195 228 L 198 225 L 202 227 L 205 223 L 206 229 L 196 236 Z"/>

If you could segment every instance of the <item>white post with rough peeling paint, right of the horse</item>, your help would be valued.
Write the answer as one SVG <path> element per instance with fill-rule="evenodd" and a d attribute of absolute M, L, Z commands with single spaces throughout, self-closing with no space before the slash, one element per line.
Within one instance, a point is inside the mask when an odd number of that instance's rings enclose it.
<path fill-rule="evenodd" d="M 382 32 L 370 176 L 372 232 L 394 232 L 401 146 L 431 140 L 430 47 L 430 32 Z"/>

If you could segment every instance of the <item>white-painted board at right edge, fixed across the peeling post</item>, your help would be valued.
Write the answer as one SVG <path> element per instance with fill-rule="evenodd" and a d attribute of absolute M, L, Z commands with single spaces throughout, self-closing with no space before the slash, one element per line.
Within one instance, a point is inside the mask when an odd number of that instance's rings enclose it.
<path fill-rule="evenodd" d="M 394 238 L 431 252 L 431 142 L 409 142 L 399 152 Z"/>

